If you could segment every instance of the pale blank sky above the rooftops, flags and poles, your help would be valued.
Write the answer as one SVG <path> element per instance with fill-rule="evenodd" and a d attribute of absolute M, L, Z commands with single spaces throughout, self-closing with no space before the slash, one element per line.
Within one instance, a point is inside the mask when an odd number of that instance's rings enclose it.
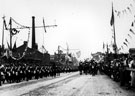
<path fill-rule="evenodd" d="M 91 53 L 105 51 L 103 43 L 109 45 L 113 43 L 110 25 L 112 2 L 114 11 L 117 10 L 114 12 L 116 42 L 118 48 L 124 47 L 121 52 L 128 52 L 129 48 L 135 47 L 135 36 L 129 32 L 134 20 L 134 0 L 0 0 L 0 44 L 3 16 L 7 25 L 9 18 L 12 17 L 26 26 L 32 26 L 32 16 L 35 16 L 36 26 L 43 26 L 43 18 L 46 25 L 58 25 L 46 28 L 46 33 L 44 28 L 36 28 L 36 43 L 39 50 L 44 45 L 50 54 L 54 54 L 58 45 L 64 49 L 68 45 L 70 52 L 76 53 L 80 50 L 80 58 L 89 58 Z M 127 9 L 128 6 L 131 10 Z M 124 9 L 126 12 L 122 13 Z M 13 23 L 13 26 L 17 25 Z M 23 41 L 28 39 L 29 31 L 29 47 L 31 47 L 31 29 L 20 30 L 19 34 L 13 37 L 13 43 L 17 40 L 17 46 L 22 45 Z M 128 46 L 123 45 L 125 38 L 130 42 Z M 7 42 L 9 32 L 5 30 L 5 46 Z"/>

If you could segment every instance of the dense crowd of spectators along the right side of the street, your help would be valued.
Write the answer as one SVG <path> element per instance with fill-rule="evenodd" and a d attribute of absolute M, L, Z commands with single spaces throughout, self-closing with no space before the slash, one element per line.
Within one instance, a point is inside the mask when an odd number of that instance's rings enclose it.
<path fill-rule="evenodd" d="M 127 88 L 135 87 L 135 56 L 102 62 L 101 71 Z"/>

